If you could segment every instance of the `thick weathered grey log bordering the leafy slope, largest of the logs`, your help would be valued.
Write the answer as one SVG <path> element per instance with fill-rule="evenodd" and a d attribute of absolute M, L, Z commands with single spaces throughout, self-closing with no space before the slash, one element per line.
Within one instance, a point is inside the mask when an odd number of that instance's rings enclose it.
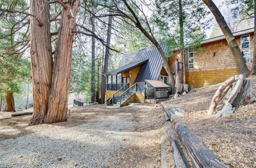
<path fill-rule="evenodd" d="M 161 102 L 195 167 L 227 167 L 191 132 L 182 120 Z"/>

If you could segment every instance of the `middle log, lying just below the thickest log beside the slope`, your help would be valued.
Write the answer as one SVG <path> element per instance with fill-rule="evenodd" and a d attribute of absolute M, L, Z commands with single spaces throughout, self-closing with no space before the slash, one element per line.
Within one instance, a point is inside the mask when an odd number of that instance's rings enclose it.
<path fill-rule="evenodd" d="M 169 137 L 170 146 L 172 146 L 174 162 L 176 167 L 189 167 L 184 154 L 181 151 L 180 145 L 178 143 L 178 136 L 174 130 L 174 127 L 170 121 L 166 123 L 167 132 Z"/>

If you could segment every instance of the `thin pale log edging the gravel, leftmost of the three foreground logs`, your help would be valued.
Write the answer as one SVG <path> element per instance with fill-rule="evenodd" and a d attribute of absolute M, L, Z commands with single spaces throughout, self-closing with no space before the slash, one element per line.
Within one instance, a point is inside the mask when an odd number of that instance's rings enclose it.
<path fill-rule="evenodd" d="M 166 128 L 163 127 L 161 131 L 161 168 L 170 167 L 168 164 L 167 152 L 166 152 L 166 143 L 165 143 L 165 132 Z"/>

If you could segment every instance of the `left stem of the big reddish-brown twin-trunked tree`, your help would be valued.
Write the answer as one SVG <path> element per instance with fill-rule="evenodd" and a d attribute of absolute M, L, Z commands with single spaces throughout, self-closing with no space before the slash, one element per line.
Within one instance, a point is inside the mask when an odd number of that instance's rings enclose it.
<path fill-rule="evenodd" d="M 33 116 L 30 125 L 44 122 L 52 81 L 52 47 L 50 35 L 50 5 L 42 0 L 30 1 L 31 14 L 37 16 L 41 25 L 31 17 L 30 52 L 33 83 Z"/>

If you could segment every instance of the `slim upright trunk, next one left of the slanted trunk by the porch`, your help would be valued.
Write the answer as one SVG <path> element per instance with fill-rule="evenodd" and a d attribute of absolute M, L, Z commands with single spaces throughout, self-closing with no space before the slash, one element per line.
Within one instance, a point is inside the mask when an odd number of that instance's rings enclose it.
<path fill-rule="evenodd" d="M 92 32 L 95 33 L 95 18 L 92 17 Z M 92 37 L 91 101 L 95 101 L 95 38 Z"/>

